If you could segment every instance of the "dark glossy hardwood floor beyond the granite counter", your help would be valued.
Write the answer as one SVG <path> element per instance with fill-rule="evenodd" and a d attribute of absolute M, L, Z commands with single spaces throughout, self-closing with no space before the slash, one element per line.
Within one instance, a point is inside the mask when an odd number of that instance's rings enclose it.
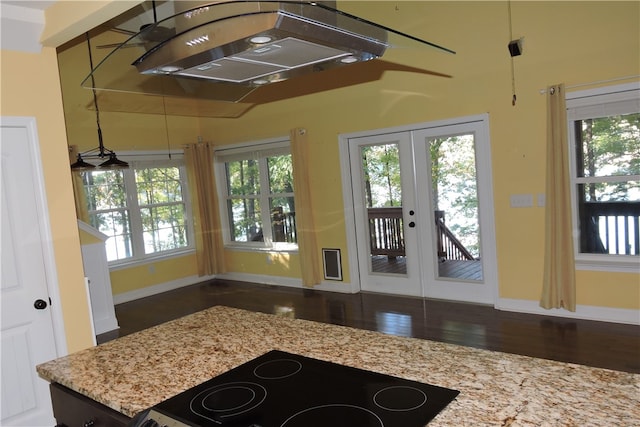
<path fill-rule="evenodd" d="M 116 306 L 119 335 L 214 305 L 640 373 L 640 326 L 489 306 L 213 280 Z M 104 334 L 98 342 L 115 338 Z"/>

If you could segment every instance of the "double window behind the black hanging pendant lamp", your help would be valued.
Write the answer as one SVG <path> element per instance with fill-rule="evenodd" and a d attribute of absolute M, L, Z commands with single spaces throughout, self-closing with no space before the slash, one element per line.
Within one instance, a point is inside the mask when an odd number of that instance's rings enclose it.
<path fill-rule="evenodd" d="M 129 169 L 83 172 L 82 178 L 89 222 L 109 236 L 109 262 L 191 248 L 183 166 L 139 163 Z"/>

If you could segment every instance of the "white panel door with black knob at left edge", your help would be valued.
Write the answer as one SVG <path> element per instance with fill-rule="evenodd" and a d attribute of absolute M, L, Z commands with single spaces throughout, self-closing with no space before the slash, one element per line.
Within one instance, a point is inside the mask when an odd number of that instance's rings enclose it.
<path fill-rule="evenodd" d="M 53 426 L 48 383 L 35 366 L 55 359 L 56 341 L 41 224 L 42 182 L 33 162 L 35 132 L 2 120 L 2 406 L 3 426 Z"/>

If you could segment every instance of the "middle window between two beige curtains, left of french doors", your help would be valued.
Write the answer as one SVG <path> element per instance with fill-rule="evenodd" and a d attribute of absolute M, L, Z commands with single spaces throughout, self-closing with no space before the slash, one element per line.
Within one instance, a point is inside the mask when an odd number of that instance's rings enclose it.
<path fill-rule="evenodd" d="M 288 141 L 216 151 L 225 243 L 297 249 L 292 161 Z"/>

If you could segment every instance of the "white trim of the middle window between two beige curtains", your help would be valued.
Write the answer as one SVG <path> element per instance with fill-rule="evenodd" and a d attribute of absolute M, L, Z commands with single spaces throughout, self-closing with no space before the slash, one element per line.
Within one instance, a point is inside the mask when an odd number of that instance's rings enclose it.
<path fill-rule="evenodd" d="M 262 139 L 258 141 L 242 142 L 237 144 L 220 145 L 214 149 L 214 174 L 216 177 L 216 186 L 218 191 L 220 221 L 222 223 L 222 236 L 225 249 L 246 252 L 283 252 L 297 253 L 298 245 L 283 242 L 271 242 L 265 238 L 264 242 L 236 242 L 231 240 L 229 231 L 229 217 L 226 209 L 227 199 L 227 177 L 225 171 L 225 162 L 229 160 L 246 159 L 246 153 L 252 151 L 261 151 L 268 154 L 282 154 L 283 152 L 291 153 L 291 141 L 288 136 Z M 260 173 L 260 188 L 266 188 L 266 174 Z M 294 190 L 295 198 L 295 190 Z M 263 224 L 263 227 L 265 225 Z"/>

